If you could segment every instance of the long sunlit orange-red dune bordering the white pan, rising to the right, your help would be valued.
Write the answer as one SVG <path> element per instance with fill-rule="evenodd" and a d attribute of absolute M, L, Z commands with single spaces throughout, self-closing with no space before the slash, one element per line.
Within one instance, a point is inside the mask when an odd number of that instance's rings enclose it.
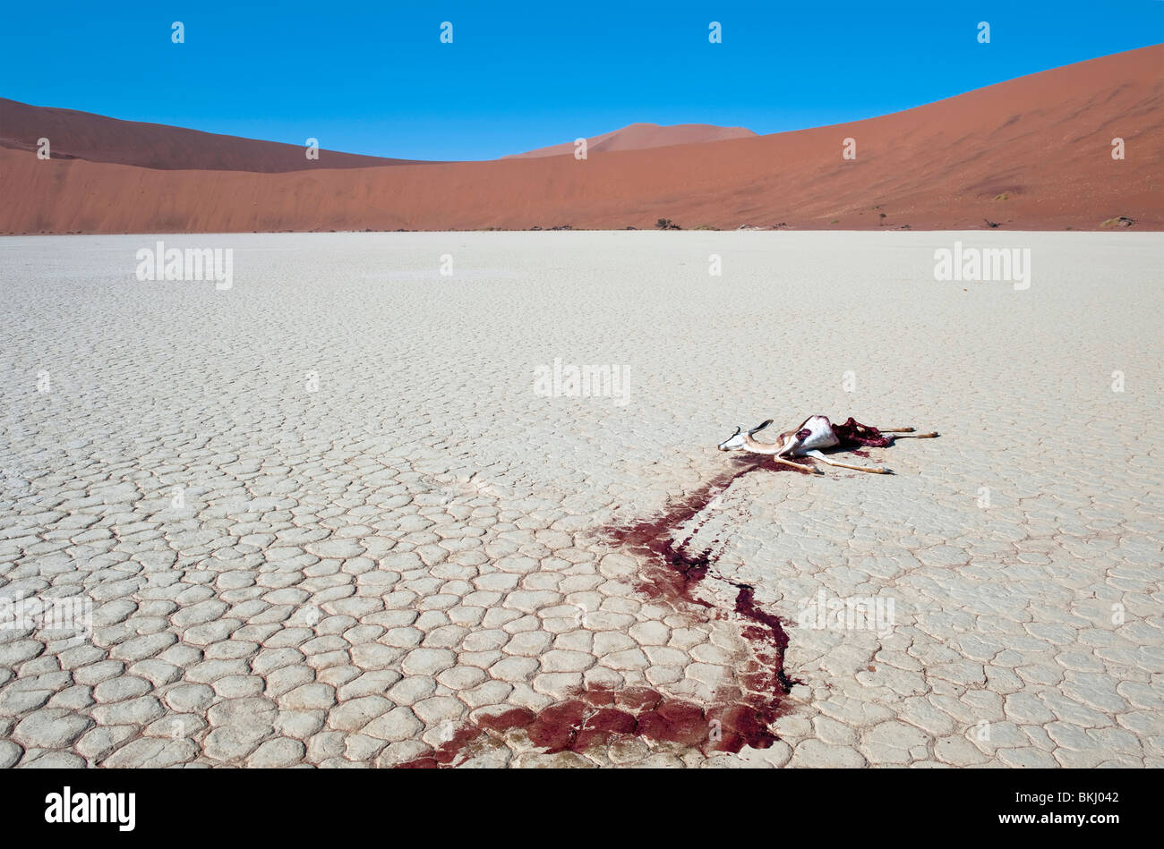
<path fill-rule="evenodd" d="M 723 229 L 964 229 L 984 219 L 1100 229 L 1121 215 L 1159 230 L 1162 66 L 1164 45 L 1154 45 L 866 121 L 585 160 L 251 173 L 0 148 L 0 233 L 622 229 L 660 217 Z M 1116 136 L 1123 160 L 1112 158 Z M 846 137 L 857 160 L 842 158 Z"/>

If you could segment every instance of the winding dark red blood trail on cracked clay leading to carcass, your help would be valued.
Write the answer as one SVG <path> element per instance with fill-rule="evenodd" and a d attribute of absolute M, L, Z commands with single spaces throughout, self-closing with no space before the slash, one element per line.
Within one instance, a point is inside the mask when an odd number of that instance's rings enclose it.
<path fill-rule="evenodd" d="M 690 495 L 669 504 L 660 515 L 606 529 L 610 542 L 644 561 L 637 587 L 641 593 L 688 613 L 695 613 L 690 609 L 694 606 L 698 608 L 701 619 L 728 614 L 716 611 L 711 602 L 694 594 L 715 563 L 710 548 L 698 552 L 687 551 L 688 543 L 703 523 L 679 542 L 674 533 L 707 508 L 737 478 L 759 470 L 808 473 L 774 463 L 769 457 L 734 457 L 732 469 L 717 475 Z M 715 542 L 718 543 L 718 540 Z M 740 666 L 741 686 L 722 690 L 712 704 L 697 705 L 672 699 L 650 687 L 590 687 L 539 712 L 514 708 L 481 716 L 431 755 L 400 766 L 456 765 L 462 749 L 482 735 L 501 736 L 513 729 L 524 729 L 530 741 L 548 754 L 585 751 L 619 737 L 679 743 L 704 751 L 738 752 L 745 745 L 754 749 L 771 747 L 776 741 L 771 727 L 780 716 L 782 699 L 797 683 L 787 676 L 783 668 L 788 635 L 781 620 L 755 602 L 751 586 L 731 580 L 726 583 L 737 590 L 731 613 L 747 622 L 743 635 L 752 644 L 754 658 L 744 661 Z"/>

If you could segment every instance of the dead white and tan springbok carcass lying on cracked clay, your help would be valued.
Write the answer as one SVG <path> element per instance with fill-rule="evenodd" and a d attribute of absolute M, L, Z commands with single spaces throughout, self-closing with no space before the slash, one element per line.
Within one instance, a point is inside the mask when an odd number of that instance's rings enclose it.
<path fill-rule="evenodd" d="M 853 469 L 859 472 L 873 472 L 874 475 L 892 475 L 888 469 L 881 466 L 870 468 L 838 463 L 822 454 L 821 449 L 837 448 L 838 445 L 850 450 L 861 447 L 887 448 L 893 444 L 894 440 L 909 437 L 928 440 L 937 436 L 936 433 L 915 434 L 914 428 L 874 428 L 870 424 L 861 424 L 852 416 L 844 424 L 833 424 L 829 421 L 828 416 L 810 415 L 801 422 L 800 427 L 780 434 L 779 438 L 773 443 L 759 442 L 752 438 L 754 434 L 764 430 L 771 423 L 772 419 L 768 419 L 766 422 L 757 424 L 746 433 L 743 433 L 743 428 L 736 428 L 736 433 L 730 438 L 719 443 L 719 450 L 732 451 L 743 449 L 752 454 L 762 454 L 772 457 L 772 459 L 782 465 L 790 465 L 794 469 L 814 473 L 817 473 L 818 470 L 809 465 L 802 465 L 801 463 L 793 463 L 787 457 L 812 457 L 839 469 Z M 883 434 L 890 435 L 886 436 Z"/>

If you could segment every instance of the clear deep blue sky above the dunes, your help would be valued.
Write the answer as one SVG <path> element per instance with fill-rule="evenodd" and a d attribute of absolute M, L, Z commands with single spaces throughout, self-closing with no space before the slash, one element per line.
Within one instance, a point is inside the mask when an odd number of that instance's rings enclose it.
<path fill-rule="evenodd" d="M 1162 0 L 154 0 L 12 2 L 5 19 L 0 97 L 426 159 L 636 121 L 837 123 L 1164 41 Z"/>

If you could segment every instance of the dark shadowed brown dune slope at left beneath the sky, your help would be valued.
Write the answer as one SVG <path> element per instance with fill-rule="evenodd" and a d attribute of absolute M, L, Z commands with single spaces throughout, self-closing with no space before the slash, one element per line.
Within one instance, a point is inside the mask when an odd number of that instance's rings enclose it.
<path fill-rule="evenodd" d="M 51 109 L 0 98 L 0 148 L 35 151 L 40 138 L 49 140 L 54 159 L 88 159 L 168 170 L 274 173 L 418 164 L 414 159 L 384 159 L 331 150 L 320 150 L 319 159 L 312 160 L 306 157 L 305 147 L 299 144 L 121 121 L 88 112 Z"/>

